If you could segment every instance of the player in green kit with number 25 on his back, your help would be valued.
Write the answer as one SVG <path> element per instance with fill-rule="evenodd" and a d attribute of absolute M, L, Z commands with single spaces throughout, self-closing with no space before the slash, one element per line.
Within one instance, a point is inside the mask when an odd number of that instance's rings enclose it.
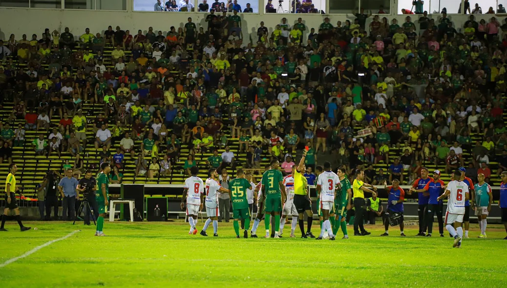
<path fill-rule="evenodd" d="M 239 219 L 245 221 L 245 231 L 243 233 L 244 238 L 248 238 L 248 229 L 250 229 L 250 209 L 248 206 L 248 200 L 246 199 L 246 190 L 255 189 L 252 187 L 250 182 L 245 179 L 245 173 L 243 169 L 236 171 L 236 178 L 229 182 L 229 190 L 232 202 L 232 218 L 234 219 L 234 231 L 236 232 L 236 238 L 239 238 Z"/>

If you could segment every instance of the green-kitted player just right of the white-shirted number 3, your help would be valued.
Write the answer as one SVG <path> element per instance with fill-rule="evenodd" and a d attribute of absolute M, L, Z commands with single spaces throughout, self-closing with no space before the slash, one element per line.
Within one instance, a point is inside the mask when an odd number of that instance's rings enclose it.
<path fill-rule="evenodd" d="M 336 193 L 335 198 L 335 210 L 336 210 L 336 222 L 333 227 L 333 234 L 336 235 L 338 229 L 341 227 L 343 232 L 342 239 L 348 239 L 347 234 L 347 223 L 345 222 L 345 214 L 347 210 L 350 209 L 350 201 L 352 199 L 352 188 L 350 186 L 350 181 L 345 177 L 345 171 L 343 168 L 338 168 L 337 171 L 338 178 L 340 179 L 340 183 L 342 188 L 340 191 Z"/>

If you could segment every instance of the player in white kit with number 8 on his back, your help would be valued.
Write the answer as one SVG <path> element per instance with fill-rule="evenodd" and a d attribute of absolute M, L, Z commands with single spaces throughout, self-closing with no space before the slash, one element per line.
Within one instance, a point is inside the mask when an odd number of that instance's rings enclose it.
<path fill-rule="evenodd" d="M 201 178 L 197 177 L 199 168 L 196 166 L 190 168 L 190 173 L 192 176 L 185 180 L 181 207 L 183 209 L 185 207 L 185 202 L 187 202 L 187 217 L 190 224 L 189 234 L 195 235 L 197 234 L 197 229 L 195 228 L 197 224 L 197 214 L 202 210 L 203 206 L 204 183 Z"/>

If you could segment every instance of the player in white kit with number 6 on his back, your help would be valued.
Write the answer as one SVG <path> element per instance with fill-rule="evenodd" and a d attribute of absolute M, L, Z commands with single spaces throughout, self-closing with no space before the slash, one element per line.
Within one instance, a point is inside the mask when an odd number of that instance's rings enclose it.
<path fill-rule="evenodd" d="M 456 170 L 453 174 L 453 181 L 447 184 L 447 188 L 437 200 L 449 196 L 447 201 L 447 212 L 445 214 L 446 229 L 454 237 L 453 247 L 461 247 L 463 238 L 463 216 L 465 214 L 465 202 L 469 199 L 468 185 L 460 181 L 461 172 Z"/>

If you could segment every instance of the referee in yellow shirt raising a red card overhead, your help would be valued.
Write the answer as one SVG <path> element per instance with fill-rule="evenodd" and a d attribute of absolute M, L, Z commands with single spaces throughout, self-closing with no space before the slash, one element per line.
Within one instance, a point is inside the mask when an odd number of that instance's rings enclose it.
<path fill-rule="evenodd" d="M 303 157 L 299 161 L 299 165 L 292 168 L 294 177 L 294 206 L 298 211 L 299 229 L 301 230 L 301 238 L 315 238 L 312 234 L 313 211 L 312 202 L 310 200 L 310 190 L 308 189 L 308 181 L 303 173 L 306 171 L 305 167 L 306 151 L 303 152 Z M 304 213 L 308 215 L 307 229 L 305 233 L 304 227 Z"/>

